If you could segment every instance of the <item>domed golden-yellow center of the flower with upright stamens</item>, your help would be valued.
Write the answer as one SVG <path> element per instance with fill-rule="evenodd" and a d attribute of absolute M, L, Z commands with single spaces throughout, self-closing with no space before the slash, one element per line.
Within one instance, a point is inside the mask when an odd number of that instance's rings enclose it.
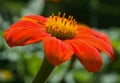
<path fill-rule="evenodd" d="M 61 40 L 73 38 L 77 29 L 78 26 L 75 19 L 72 16 L 66 19 L 65 13 L 62 17 L 60 13 L 58 13 L 58 16 L 52 14 L 46 22 L 46 32 Z"/>

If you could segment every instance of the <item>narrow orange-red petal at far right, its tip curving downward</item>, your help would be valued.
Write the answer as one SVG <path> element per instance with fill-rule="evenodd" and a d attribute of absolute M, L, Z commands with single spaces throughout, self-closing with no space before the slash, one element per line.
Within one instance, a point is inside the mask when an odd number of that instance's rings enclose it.
<path fill-rule="evenodd" d="M 79 35 L 79 39 L 88 43 L 89 45 L 94 46 L 95 48 L 99 49 L 100 51 L 105 52 L 109 56 L 111 61 L 113 61 L 113 59 L 114 59 L 113 49 L 108 42 L 104 41 L 104 39 L 102 39 L 100 37 L 96 37 L 94 35 L 88 35 L 88 34 Z"/>

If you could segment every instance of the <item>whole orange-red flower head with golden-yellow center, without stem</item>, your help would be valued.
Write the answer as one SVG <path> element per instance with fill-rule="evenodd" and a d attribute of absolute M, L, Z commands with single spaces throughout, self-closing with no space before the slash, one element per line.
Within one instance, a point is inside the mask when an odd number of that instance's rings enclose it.
<path fill-rule="evenodd" d="M 65 18 L 65 14 L 23 16 L 4 32 L 4 37 L 10 47 L 43 41 L 45 58 L 54 66 L 76 56 L 87 71 L 96 72 L 102 66 L 100 52 L 114 59 L 110 41 L 103 33 L 78 24 L 72 16 Z"/>

